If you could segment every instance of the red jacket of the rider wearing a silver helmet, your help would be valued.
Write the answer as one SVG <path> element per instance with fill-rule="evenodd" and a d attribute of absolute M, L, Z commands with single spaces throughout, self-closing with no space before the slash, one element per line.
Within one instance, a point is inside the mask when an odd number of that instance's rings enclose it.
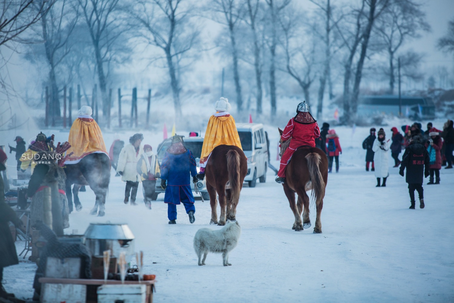
<path fill-rule="evenodd" d="M 293 121 L 291 118 L 282 132 L 281 139 L 286 141 L 291 137 L 292 146 L 309 145 L 315 147 L 315 139 L 320 137 L 320 129 L 317 122 L 303 124 Z"/>

